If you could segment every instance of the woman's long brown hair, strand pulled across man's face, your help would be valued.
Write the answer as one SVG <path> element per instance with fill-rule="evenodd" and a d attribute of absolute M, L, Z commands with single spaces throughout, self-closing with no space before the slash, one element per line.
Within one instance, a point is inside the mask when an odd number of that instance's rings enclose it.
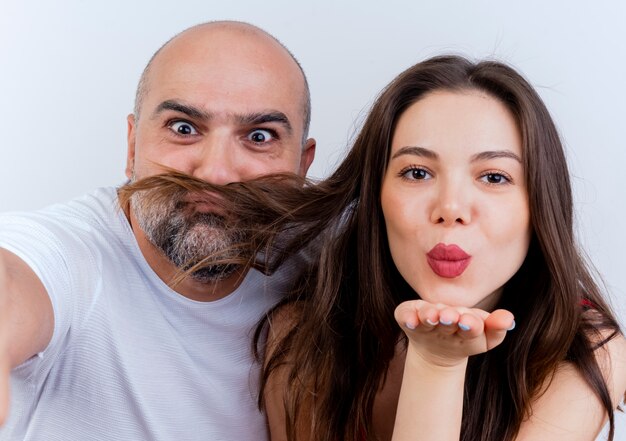
<path fill-rule="evenodd" d="M 320 250 L 255 337 L 261 342 L 273 315 L 287 305 L 297 312 L 299 318 L 265 361 L 262 382 L 263 389 L 276 372 L 287 372 L 289 439 L 303 432 L 325 441 L 374 439 L 374 399 L 404 338 L 393 311 L 416 298 L 391 259 L 380 205 L 392 135 L 402 113 L 425 94 L 468 89 L 499 99 L 517 120 L 533 236 L 497 306 L 515 314 L 516 330 L 494 350 L 470 358 L 462 439 L 513 439 L 531 403 L 565 361 L 600 399 L 613 438 L 613 406 L 594 351 L 608 340 L 600 331 L 608 330 L 610 339 L 619 326 L 575 244 L 569 172 L 554 123 L 514 69 L 440 56 L 407 69 L 381 92 L 352 149 L 328 179 L 294 185 L 293 178 L 270 177 L 227 189 L 195 184 L 194 191 L 208 189 L 232 202 L 226 206 L 234 219 L 257 216 L 255 226 L 247 227 L 255 232 L 249 252 L 263 261 L 251 265 L 271 271 L 311 243 Z M 176 184 L 183 178 L 168 179 Z M 284 229 L 292 233 L 281 238 Z"/>

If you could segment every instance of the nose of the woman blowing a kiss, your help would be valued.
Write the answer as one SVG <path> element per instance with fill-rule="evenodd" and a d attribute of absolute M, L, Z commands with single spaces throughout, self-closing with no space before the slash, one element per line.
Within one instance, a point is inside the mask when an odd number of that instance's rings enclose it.
<path fill-rule="evenodd" d="M 433 202 L 430 220 L 444 226 L 467 225 L 472 221 L 469 184 L 443 181 Z"/>

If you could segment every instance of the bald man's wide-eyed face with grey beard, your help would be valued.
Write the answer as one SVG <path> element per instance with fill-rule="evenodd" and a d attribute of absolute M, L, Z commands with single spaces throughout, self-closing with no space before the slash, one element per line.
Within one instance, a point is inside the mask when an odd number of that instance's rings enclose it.
<path fill-rule="evenodd" d="M 140 179 L 166 166 L 214 184 L 275 172 L 304 176 L 315 143 L 302 142 L 303 97 L 297 66 L 266 36 L 188 31 L 157 55 L 139 117 L 128 118 L 126 174 Z M 139 226 L 179 267 L 206 255 L 207 246 L 241 239 L 226 237 L 223 219 L 193 195 L 158 207 L 142 196 L 131 200 Z"/>

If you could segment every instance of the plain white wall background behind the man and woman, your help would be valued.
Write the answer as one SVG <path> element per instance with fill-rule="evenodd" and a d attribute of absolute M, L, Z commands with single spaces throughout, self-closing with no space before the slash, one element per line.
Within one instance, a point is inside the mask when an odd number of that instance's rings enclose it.
<path fill-rule="evenodd" d="M 184 28 L 254 23 L 301 61 L 327 175 L 377 92 L 443 52 L 495 57 L 538 89 L 567 148 L 579 237 L 626 317 L 626 4 L 620 1 L 0 0 L 0 211 L 124 180 L 126 115 L 151 54 Z M 620 418 L 618 440 L 626 440 Z"/>

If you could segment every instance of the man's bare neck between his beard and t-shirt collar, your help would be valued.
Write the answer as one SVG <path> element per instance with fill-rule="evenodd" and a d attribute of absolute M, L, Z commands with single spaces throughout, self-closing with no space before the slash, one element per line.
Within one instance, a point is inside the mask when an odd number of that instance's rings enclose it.
<path fill-rule="evenodd" d="M 237 270 L 231 276 L 213 283 L 199 282 L 191 276 L 177 281 L 176 279 L 181 275 L 181 270 L 148 240 L 137 223 L 132 210 L 125 209 L 124 212 L 146 262 L 148 262 L 150 268 L 159 278 L 178 294 L 198 302 L 212 302 L 232 293 L 243 281 L 246 275 L 243 269 Z M 176 283 L 173 284 L 175 281 Z"/>

